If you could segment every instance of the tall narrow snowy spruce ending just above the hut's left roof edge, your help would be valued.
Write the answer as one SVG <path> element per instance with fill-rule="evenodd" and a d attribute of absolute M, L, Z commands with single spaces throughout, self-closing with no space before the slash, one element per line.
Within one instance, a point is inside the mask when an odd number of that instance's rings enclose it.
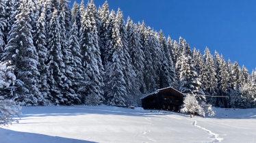
<path fill-rule="evenodd" d="M 130 23 L 130 22 L 129 22 Z M 142 46 L 140 44 L 140 35 L 136 29 L 136 25 L 132 24 L 127 29 L 128 37 L 129 37 L 129 53 L 131 57 L 131 65 L 133 66 L 134 72 L 136 73 L 136 82 L 138 82 L 138 88 L 141 93 L 146 93 L 146 86 L 143 79 L 144 69 L 144 52 L 141 50 Z"/>

